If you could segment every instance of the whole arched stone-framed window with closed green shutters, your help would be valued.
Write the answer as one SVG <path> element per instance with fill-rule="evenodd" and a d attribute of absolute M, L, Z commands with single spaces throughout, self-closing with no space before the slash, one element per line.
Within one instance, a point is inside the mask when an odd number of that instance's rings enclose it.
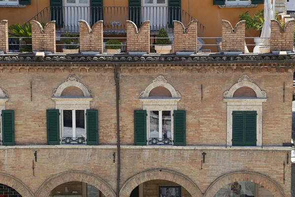
<path fill-rule="evenodd" d="M 248 75 L 223 93 L 227 102 L 227 146 L 262 146 L 262 91 Z"/>

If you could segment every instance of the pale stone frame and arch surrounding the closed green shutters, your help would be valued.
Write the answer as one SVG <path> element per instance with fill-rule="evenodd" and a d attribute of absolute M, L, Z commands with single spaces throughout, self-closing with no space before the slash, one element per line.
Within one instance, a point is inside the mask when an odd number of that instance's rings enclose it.
<path fill-rule="evenodd" d="M 233 97 L 237 89 L 248 87 L 255 91 L 257 98 Z M 227 146 L 233 146 L 233 111 L 256 111 L 256 146 L 262 146 L 262 104 L 266 102 L 266 92 L 261 90 L 248 75 L 238 79 L 230 90 L 223 93 L 223 101 L 227 102 Z"/>

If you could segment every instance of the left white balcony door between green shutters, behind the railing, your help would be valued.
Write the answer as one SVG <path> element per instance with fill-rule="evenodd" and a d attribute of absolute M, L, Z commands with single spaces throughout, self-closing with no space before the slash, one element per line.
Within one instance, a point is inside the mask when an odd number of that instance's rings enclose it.
<path fill-rule="evenodd" d="M 68 31 L 79 31 L 79 20 L 90 22 L 89 0 L 64 0 L 64 26 Z"/>

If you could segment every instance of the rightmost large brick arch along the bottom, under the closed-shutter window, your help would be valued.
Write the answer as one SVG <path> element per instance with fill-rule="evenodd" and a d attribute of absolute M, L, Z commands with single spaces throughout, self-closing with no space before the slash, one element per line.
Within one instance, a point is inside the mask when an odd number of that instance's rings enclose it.
<path fill-rule="evenodd" d="M 250 181 L 264 186 L 274 197 L 284 197 L 283 189 L 266 175 L 257 172 L 239 171 L 232 172 L 217 178 L 208 187 L 204 197 L 214 197 L 214 195 L 225 185 L 236 181 Z"/>

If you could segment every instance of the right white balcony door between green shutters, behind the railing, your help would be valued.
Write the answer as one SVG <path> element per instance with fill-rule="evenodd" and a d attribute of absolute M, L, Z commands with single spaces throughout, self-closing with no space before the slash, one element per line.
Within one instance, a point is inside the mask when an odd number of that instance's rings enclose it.
<path fill-rule="evenodd" d="M 142 18 L 150 21 L 151 30 L 167 27 L 168 0 L 142 0 Z"/>

